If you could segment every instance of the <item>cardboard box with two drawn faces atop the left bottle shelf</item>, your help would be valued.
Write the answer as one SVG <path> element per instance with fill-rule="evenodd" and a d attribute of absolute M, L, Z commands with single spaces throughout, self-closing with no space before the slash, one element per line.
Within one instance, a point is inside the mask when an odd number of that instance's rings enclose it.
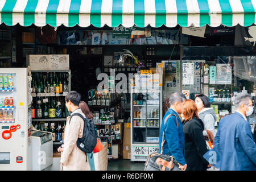
<path fill-rule="evenodd" d="M 27 55 L 31 71 L 69 70 L 69 55 Z"/>

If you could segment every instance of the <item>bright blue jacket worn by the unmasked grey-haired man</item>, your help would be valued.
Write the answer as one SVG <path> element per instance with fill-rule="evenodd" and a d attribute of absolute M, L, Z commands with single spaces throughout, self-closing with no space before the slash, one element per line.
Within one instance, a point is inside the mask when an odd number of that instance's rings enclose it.
<path fill-rule="evenodd" d="M 176 117 L 171 115 L 164 125 L 164 120 L 166 119 L 167 115 L 175 114 L 178 120 L 178 126 L 176 122 Z M 163 138 L 163 131 L 164 131 L 164 142 L 163 144 L 163 154 L 165 155 L 172 155 L 174 156 L 175 160 L 179 162 L 181 165 L 186 164 L 184 158 L 184 133 L 183 133 L 183 125 L 180 120 L 179 115 L 172 109 L 168 109 L 164 118 L 162 120 L 162 125 L 160 129 L 160 136 L 159 136 L 159 153 L 161 152 L 161 143 Z"/>

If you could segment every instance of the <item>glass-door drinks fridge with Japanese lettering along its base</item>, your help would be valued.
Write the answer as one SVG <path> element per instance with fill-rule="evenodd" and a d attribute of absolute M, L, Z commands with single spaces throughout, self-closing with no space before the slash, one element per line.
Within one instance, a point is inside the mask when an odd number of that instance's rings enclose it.
<path fill-rule="evenodd" d="M 162 87 L 131 89 L 131 161 L 146 161 L 159 151 Z"/>

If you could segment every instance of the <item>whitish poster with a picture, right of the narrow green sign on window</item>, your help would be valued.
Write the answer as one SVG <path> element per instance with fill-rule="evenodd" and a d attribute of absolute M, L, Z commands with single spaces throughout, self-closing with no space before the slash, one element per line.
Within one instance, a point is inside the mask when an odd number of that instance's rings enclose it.
<path fill-rule="evenodd" d="M 216 64 L 216 84 L 232 84 L 230 64 Z"/>

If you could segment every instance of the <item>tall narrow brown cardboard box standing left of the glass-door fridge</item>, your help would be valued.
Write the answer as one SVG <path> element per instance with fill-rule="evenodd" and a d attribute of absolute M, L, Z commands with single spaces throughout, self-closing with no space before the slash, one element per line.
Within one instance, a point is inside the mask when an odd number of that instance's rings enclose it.
<path fill-rule="evenodd" d="M 123 159 L 131 159 L 131 128 L 125 123 L 123 128 Z"/>

